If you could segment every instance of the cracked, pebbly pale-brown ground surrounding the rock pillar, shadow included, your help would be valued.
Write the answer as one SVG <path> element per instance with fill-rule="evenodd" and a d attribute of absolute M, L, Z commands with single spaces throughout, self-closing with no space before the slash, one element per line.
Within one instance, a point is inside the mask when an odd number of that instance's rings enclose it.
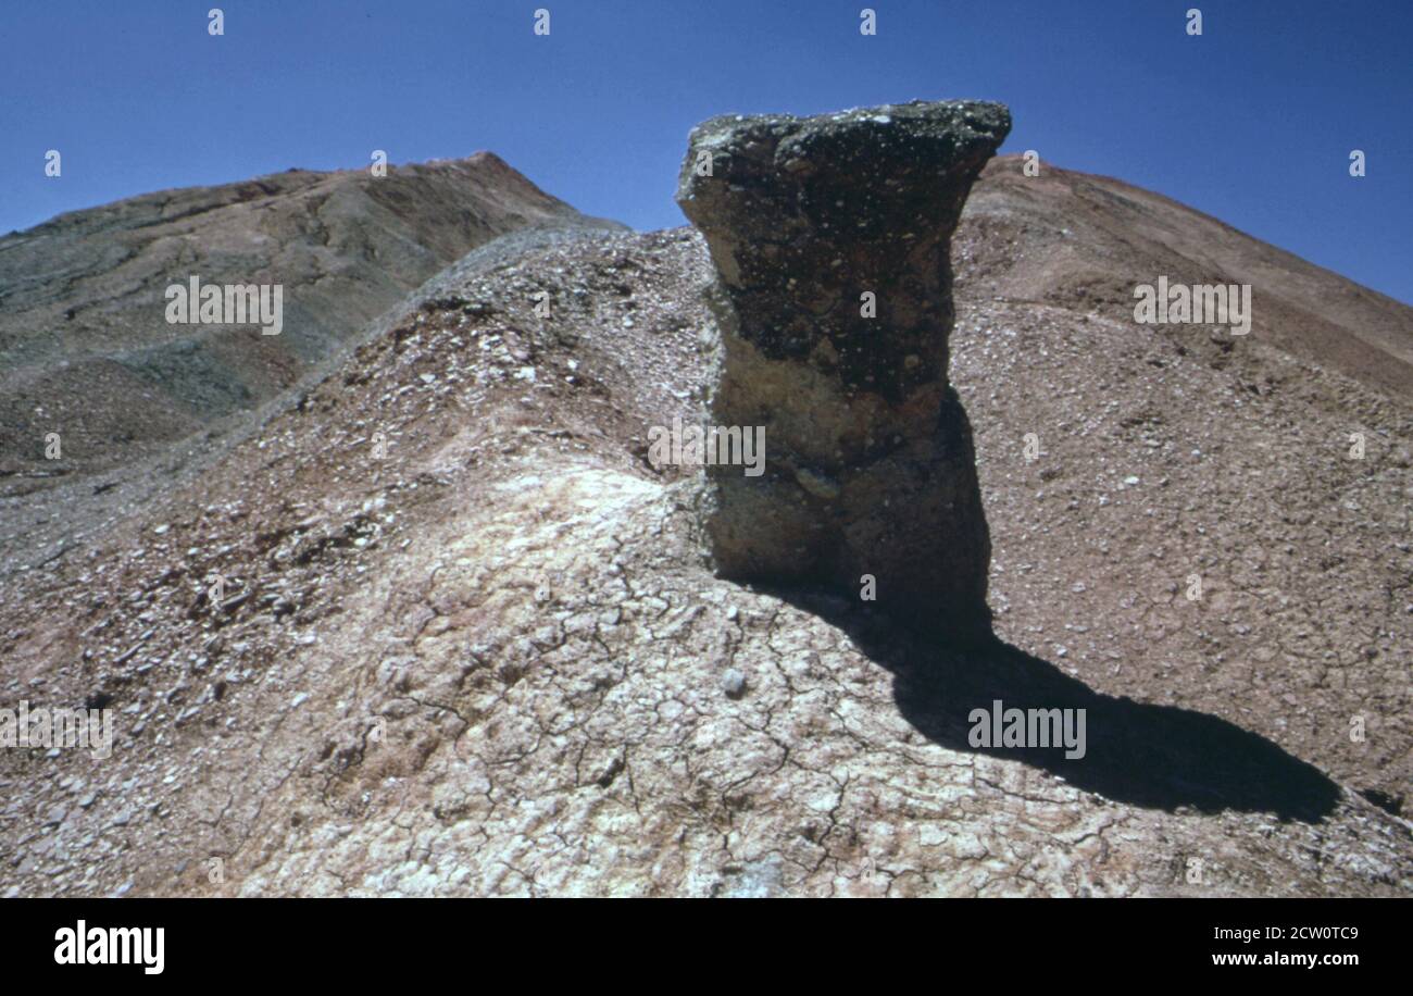
<path fill-rule="evenodd" d="M 531 240 L 6 578 L 7 698 L 110 696 L 117 743 L 3 752 L 3 887 L 1406 894 L 1406 397 L 1260 322 L 1136 329 L 1126 275 L 1031 261 L 1106 249 L 1122 185 L 1023 182 L 988 167 L 954 242 L 1002 643 L 714 576 L 697 476 L 646 461 L 706 390 L 704 243 Z M 1089 708 L 1089 763 L 969 749 L 998 691 Z"/>

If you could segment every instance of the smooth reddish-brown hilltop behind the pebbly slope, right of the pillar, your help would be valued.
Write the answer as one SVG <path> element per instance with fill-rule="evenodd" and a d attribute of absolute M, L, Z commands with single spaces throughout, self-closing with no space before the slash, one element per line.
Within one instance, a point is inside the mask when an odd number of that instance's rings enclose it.
<path fill-rule="evenodd" d="M 1256 336 L 1413 400 L 1413 309 L 1222 222 L 1109 177 L 1000 157 L 968 205 L 988 292 L 1132 315 L 1136 284 L 1251 284 Z M 1009 243 L 1024 232 L 1023 259 Z"/>

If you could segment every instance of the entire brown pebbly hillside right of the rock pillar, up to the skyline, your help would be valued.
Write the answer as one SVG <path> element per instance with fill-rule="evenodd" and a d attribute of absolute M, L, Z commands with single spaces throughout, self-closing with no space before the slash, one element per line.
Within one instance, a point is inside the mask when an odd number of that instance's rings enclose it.
<path fill-rule="evenodd" d="M 954 256 L 954 381 L 978 432 L 1006 639 L 1403 797 L 1413 408 L 1395 381 L 1413 309 L 1166 198 L 1063 170 L 1027 178 L 1015 157 L 988 167 Z M 1135 324 L 1132 288 L 1159 274 L 1251 280 L 1252 332 Z M 1318 319 L 1313 287 L 1332 288 Z M 1371 328 L 1396 352 L 1368 336 L 1381 376 L 1362 377 L 1348 343 Z M 1364 742 L 1356 716 L 1378 730 Z"/>

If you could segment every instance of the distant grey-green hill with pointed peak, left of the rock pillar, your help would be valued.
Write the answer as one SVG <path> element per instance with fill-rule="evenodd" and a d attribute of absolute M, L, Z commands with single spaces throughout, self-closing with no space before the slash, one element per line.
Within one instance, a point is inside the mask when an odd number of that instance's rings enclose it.
<path fill-rule="evenodd" d="M 0 472 L 81 473 L 257 407 L 476 246 L 578 219 L 489 153 L 147 194 L 0 237 Z M 278 336 L 170 325 L 164 291 L 280 284 Z M 64 459 L 48 462 L 45 432 Z"/>

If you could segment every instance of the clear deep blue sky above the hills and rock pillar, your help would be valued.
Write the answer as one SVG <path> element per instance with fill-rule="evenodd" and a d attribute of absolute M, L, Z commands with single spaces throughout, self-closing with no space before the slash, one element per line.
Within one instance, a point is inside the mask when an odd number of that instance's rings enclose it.
<path fill-rule="evenodd" d="M 1005 151 L 1413 302 L 1410 49 L 1410 0 L 4 0 L 0 232 L 373 148 L 489 148 L 581 211 L 664 227 L 705 117 L 985 97 L 1013 112 Z"/>

